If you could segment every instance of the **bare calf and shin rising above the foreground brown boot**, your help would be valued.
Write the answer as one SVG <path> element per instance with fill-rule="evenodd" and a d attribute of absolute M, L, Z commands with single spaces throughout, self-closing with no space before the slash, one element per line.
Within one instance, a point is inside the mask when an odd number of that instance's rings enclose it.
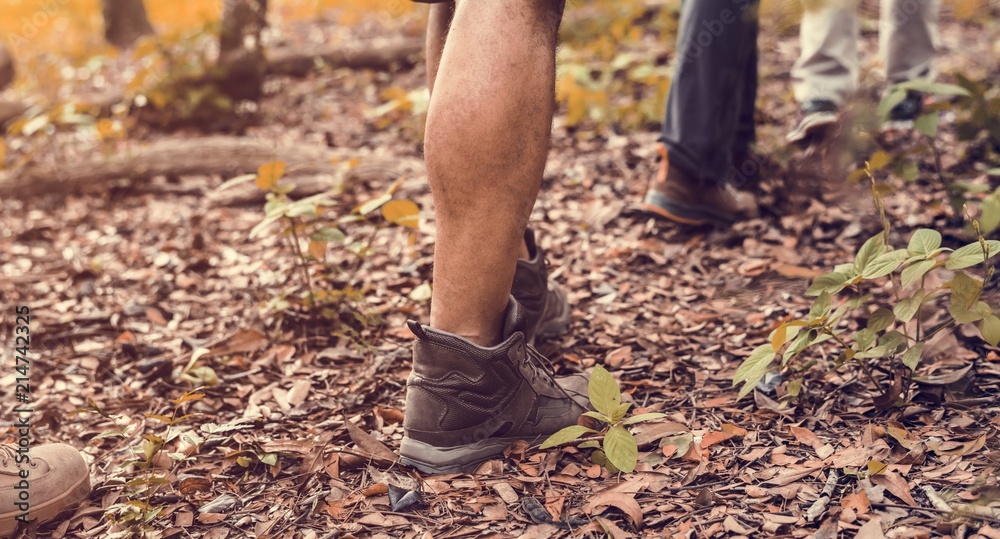
<path fill-rule="evenodd" d="M 545 168 L 561 12 L 559 0 L 462 0 L 433 81 L 431 327 L 482 346 L 499 341 Z"/>

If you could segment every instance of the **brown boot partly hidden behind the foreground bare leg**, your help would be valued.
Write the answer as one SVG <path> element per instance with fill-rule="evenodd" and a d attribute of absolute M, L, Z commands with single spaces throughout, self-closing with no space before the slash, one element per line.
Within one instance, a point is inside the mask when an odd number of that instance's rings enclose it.
<path fill-rule="evenodd" d="M 536 337 L 554 337 L 569 325 L 569 301 L 563 289 L 549 280 L 545 253 L 535 243 L 535 233 L 524 231 L 530 260 L 517 261 L 514 286 L 510 295 L 524 308 L 525 330 L 528 344 L 534 345 Z"/>

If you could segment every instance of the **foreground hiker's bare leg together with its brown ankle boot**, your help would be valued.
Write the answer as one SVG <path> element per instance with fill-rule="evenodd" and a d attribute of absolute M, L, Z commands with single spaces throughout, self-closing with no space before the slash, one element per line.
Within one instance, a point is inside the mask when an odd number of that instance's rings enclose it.
<path fill-rule="evenodd" d="M 474 470 L 587 409 L 587 376 L 555 376 L 526 346 L 528 309 L 508 303 L 548 153 L 561 11 L 561 0 L 459 0 L 431 75 L 434 293 L 431 325 L 408 322 L 416 338 L 399 447 L 400 462 L 425 473 Z"/>

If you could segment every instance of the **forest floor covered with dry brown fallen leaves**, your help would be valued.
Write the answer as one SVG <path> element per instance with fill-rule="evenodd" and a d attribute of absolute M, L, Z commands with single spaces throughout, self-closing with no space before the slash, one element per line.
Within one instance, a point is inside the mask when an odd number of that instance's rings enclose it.
<path fill-rule="evenodd" d="M 311 30 L 325 29 L 314 22 Z M 419 36 L 419 25 L 404 30 Z M 942 37 L 945 80 L 954 72 L 997 80 L 989 60 L 996 36 L 945 17 Z M 862 41 L 873 57 L 875 36 Z M 663 54 L 662 43 L 647 46 Z M 788 69 L 797 38 L 765 24 L 760 47 L 757 118 L 767 161 L 759 218 L 690 229 L 638 214 L 631 206 L 656 169 L 655 129 L 588 133 L 566 127 L 565 109 L 556 119 L 532 226 L 552 277 L 569 294 L 573 321 L 539 347 L 560 371 L 605 365 L 639 407 L 668 415 L 635 429 L 641 462 L 633 473 L 609 474 L 583 451 L 521 446 L 475 474 L 419 477 L 393 463 L 412 339 L 404 322 L 428 315 L 422 285 L 430 279 L 434 227 L 422 171 L 398 193 L 419 204 L 419 231 L 376 233 L 371 223 L 346 223 L 347 244 L 373 238 L 358 271 L 351 273 L 355 258 L 346 249 L 326 255 L 326 270 L 310 268 L 363 289 L 350 306 L 381 322 L 357 335 L 275 308 L 275 298 L 303 290 L 296 259 L 274 228 L 249 237 L 263 218 L 260 202 L 216 202 L 212 194 L 227 177 L 122 181 L 27 200 L 5 194 L 4 350 L 13 346 L 13 306 L 29 306 L 35 442 L 80 448 L 94 485 L 79 509 L 38 536 L 109 537 L 107 508 L 149 502 L 160 511 L 147 533 L 158 538 L 877 538 L 977 530 L 1000 537 L 1000 521 L 943 514 L 922 489 L 968 503 L 1000 492 L 1000 354 L 977 330 L 944 334 L 928 346 L 918 371 L 924 381 L 903 396 L 904 406 L 876 407 L 876 388 L 859 370 L 823 368 L 835 353 L 822 347 L 808 352 L 814 365 L 803 373 L 798 399 L 783 398 L 787 380 L 736 398 L 740 361 L 782 321 L 803 316 L 811 279 L 853 260 L 882 226 L 866 183 L 841 186 L 865 155 L 838 170 L 822 156 L 785 147 L 796 118 Z M 275 79 L 262 104 L 265 121 L 246 134 L 276 147 L 329 144 L 362 160 L 418 162 L 418 119 L 379 125 L 367 113 L 380 92 L 419 89 L 423 77 L 418 67 L 391 76 L 337 71 Z M 946 115 L 942 162 L 974 171 L 975 156 L 948 122 Z M 124 154 L 193 136 L 136 130 L 100 151 Z M 922 144 L 905 132 L 883 143 L 892 151 Z M 50 151 L 38 159 L 79 156 Z M 892 188 L 885 203 L 896 243 L 920 227 L 941 231 L 946 247 L 968 243 L 933 155 L 914 159 L 914 182 L 878 174 Z M 985 172 L 971 176 L 989 183 Z M 388 184 L 348 184 L 327 211 L 347 215 Z M 348 326 L 358 323 L 336 327 Z M 191 370 L 192 363 L 208 369 Z M 10 364 L 4 388 L 14 387 Z M 202 398 L 171 403 L 206 380 L 213 383 L 199 390 Z M 90 406 L 104 415 L 76 413 Z M 163 416 L 177 408 L 184 417 L 168 427 Z M 130 429 L 126 440 L 98 436 L 114 422 Z M 3 429 L 13 438 L 10 423 Z M 206 440 L 196 452 L 185 441 L 192 433 Z M 153 461 L 169 484 L 148 500 L 123 485 L 145 476 L 127 464 L 135 458 L 130 447 L 141 452 L 141 436 L 168 440 Z M 179 452 L 190 458 L 174 463 L 164 454 Z M 839 475 L 832 501 L 810 521 L 806 512 L 831 473 Z M 389 484 L 419 484 L 421 502 L 394 512 Z"/>

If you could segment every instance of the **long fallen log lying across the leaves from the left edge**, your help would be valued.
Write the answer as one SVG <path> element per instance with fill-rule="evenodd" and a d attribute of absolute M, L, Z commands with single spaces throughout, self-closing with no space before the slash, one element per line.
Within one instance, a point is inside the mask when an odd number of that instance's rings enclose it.
<path fill-rule="evenodd" d="M 284 161 L 289 178 L 313 178 L 313 189 L 322 178 L 327 189 L 347 179 L 392 181 L 398 176 L 417 173 L 419 160 L 384 156 L 360 156 L 364 166 L 345 172 L 340 162 L 359 157 L 345 150 L 326 146 L 280 144 L 253 137 L 195 137 L 162 140 L 123 149 L 111 158 L 98 152 L 70 164 L 29 165 L 0 175 L 0 193 L 5 198 L 26 198 L 40 194 L 66 195 L 84 188 L 118 180 L 143 180 L 157 176 L 192 176 L 218 174 L 231 178 L 253 173 L 269 161 Z M 355 172 L 356 170 L 356 172 Z M 364 176 L 368 174 L 368 176 Z M 323 190 L 323 189 L 320 189 Z M 299 191 L 296 190 L 296 193 Z"/>

